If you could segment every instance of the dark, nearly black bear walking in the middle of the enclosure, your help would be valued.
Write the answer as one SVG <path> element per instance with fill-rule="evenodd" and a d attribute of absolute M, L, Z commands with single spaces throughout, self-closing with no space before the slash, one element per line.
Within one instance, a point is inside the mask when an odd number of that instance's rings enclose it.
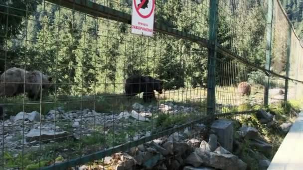
<path fill-rule="evenodd" d="M 161 94 L 162 82 L 150 76 L 133 75 L 125 81 L 125 94 L 128 96 L 128 99 L 143 92 L 144 101 L 149 102 L 155 99 L 153 90 Z"/>

